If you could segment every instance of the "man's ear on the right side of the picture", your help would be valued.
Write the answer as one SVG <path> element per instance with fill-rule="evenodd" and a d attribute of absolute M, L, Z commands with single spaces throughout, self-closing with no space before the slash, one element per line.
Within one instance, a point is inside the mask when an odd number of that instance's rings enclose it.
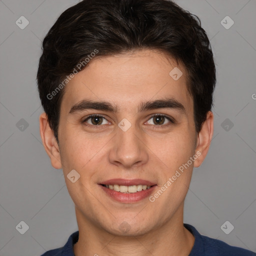
<path fill-rule="evenodd" d="M 197 159 L 194 160 L 194 167 L 199 167 L 207 155 L 210 147 L 210 142 L 213 135 L 213 113 L 207 112 L 206 120 L 203 122 L 201 130 L 197 135 L 197 142 L 195 152 L 197 152 Z"/>

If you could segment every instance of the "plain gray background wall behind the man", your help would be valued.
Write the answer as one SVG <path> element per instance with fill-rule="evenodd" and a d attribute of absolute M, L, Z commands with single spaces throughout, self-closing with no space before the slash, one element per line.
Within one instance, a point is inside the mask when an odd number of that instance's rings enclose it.
<path fill-rule="evenodd" d="M 35 80 L 42 38 L 76 2 L 0 1 L 1 256 L 40 255 L 64 245 L 77 230 L 62 170 L 51 166 L 41 144 L 38 117 L 43 110 Z M 184 222 L 204 235 L 256 251 L 256 1 L 176 2 L 201 19 L 217 69 L 213 140 L 205 161 L 194 168 Z M 24 29 L 15 23 L 22 15 L 29 21 Z M 221 24 L 227 15 L 234 21 L 229 29 Z M 234 226 L 229 234 L 220 228 L 226 220 Z M 24 234 L 18 231 L 24 224 L 15 228 L 20 221 L 29 226 Z"/>

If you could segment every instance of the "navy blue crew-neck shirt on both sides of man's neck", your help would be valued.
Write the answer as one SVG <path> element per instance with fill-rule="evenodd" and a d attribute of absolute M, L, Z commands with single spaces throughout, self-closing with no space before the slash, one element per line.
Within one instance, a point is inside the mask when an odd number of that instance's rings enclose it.
<path fill-rule="evenodd" d="M 194 236 L 194 245 L 188 256 L 255 256 L 256 253 L 239 247 L 230 246 L 225 242 L 208 236 L 200 235 L 191 225 L 184 224 Z M 41 256 L 74 256 L 73 245 L 78 241 L 78 231 L 72 233 L 66 244 L 57 249 L 48 250 Z"/>

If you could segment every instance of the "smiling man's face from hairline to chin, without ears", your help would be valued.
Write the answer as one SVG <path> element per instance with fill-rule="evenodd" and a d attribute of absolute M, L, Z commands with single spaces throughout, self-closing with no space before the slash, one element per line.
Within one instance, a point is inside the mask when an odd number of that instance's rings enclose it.
<path fill-rule="evenodd" d="M 177 80 L 169 74 L 174 67 L 183 73 Z M 82 100 L 104 101 L 113 109 L 103 104 L 97 109 L 77 107 Z M 153 50 L 92 59 L 65 87 L 58 139 L 78 223 L 93 223 L 112 234 L 138 235 L 182 218 L 193 164 L 183 172 L 180 166 L 195 155 L 197 143 L 182 65 Z M 67 178 L 73 169 L 80 175 L 74 183 Z M 138 183 L 153 186 L 135 193 L 110 189 L 137 184 L 130 189 L 140 190 Z M 164 184 L 165 190 L 154 196 Z"/>

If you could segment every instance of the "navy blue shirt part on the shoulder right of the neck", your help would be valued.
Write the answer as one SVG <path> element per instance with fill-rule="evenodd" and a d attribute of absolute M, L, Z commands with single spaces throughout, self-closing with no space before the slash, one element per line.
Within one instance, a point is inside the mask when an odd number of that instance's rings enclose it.
<path fill-rule="evenodd" d="M 184 224 L 194 236 L 194 245 L 189 256 L 256 256 L 255 252 L 240 247 L 231 246 L 221 240 L 201 235 L 195 227 Z"/>

